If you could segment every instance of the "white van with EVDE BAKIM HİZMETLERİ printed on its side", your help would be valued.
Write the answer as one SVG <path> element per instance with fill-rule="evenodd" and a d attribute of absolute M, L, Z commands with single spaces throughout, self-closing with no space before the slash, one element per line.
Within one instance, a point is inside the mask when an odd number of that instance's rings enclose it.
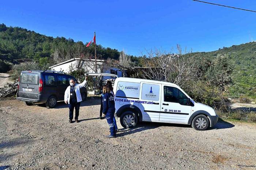
<path fill-rule="evenodd" d="M 206 130 L 218 121 L 213 108 L 193 101 L 179 86 L 169 82 L 138 78 L 116 78 L 114 82 L 116 115 L 124 128 L 138 121 L 192 125 Z"/>

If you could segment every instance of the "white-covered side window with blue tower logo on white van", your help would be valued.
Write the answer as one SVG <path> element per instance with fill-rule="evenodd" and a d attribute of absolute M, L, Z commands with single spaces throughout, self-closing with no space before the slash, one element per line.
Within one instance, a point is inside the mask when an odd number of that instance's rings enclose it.
<path fill-rule="evenodd" d="M 159 91 L 159 85 L 143 83 L 141 98 L 143 100 L 159 101 Z"/>

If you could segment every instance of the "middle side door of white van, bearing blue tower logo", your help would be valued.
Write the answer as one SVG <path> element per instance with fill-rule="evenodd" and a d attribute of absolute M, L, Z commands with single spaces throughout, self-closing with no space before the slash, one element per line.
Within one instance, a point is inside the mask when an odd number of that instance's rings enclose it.
<path fill-rule="evenodd" d="M 161 103 L 161 84 L 141 82 L 138 107 L 143 121 L 159 121 Z"/>

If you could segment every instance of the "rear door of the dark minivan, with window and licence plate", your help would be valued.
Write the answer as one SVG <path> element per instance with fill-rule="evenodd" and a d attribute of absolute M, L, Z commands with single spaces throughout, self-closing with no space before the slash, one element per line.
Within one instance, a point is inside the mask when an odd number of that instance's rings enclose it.
<path fill-rule="evenodd" d="M 39 76 L 39 73 L 21 73 L 18 97 L 38 99 Z"/>

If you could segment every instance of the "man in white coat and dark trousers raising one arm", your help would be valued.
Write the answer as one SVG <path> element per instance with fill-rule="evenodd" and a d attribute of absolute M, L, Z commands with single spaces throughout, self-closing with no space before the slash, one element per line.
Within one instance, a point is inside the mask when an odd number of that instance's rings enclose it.
<path fill-rule="evenodd" d="M 69 81 L 70 86 L 67 87 L 65 91 L 64 101 L 68 104 L 69 108 L 69 123 L 72 123 L 73 120 L 73 113 L 75 108 L 75 122 L 78 123 L 78 116 L 79 116 L 79 108 L 80 102 L 82 101 L 80 88 L 82 88 L 87 81 L 87 77 L 81 84 L 76 84 L 75 80 L 71 79 Z"/>

